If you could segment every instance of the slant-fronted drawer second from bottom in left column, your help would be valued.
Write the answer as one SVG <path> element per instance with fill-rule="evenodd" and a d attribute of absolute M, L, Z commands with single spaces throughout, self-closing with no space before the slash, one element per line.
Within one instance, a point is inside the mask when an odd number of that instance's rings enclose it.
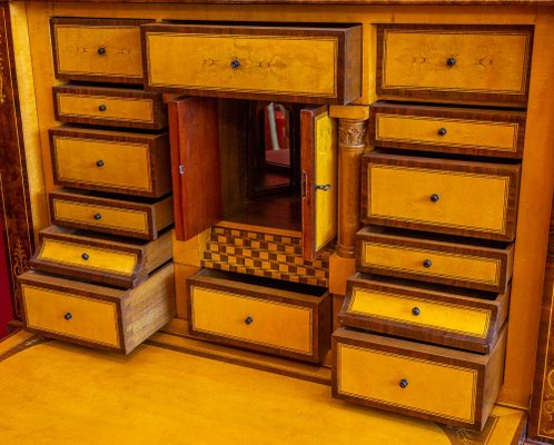
<path fill-rule="evenodd" d="M 154 241 L 119 241 L 50 226 L 40 231 L 39 241 L 31 259 L 34 269 L 122 288 L 138 286 L 171 259 L 170 231 Z"/>

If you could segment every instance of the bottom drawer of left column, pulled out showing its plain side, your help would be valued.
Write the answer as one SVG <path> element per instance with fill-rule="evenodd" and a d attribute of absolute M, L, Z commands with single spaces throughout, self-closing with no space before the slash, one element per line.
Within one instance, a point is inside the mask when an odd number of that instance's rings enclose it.
<path fill-rule="evenodd" d="M 27 329 L 99 349 L 129 354 L 175 315 L 172 264 L 130 290 L 36 271 L 18 280 Z"/>

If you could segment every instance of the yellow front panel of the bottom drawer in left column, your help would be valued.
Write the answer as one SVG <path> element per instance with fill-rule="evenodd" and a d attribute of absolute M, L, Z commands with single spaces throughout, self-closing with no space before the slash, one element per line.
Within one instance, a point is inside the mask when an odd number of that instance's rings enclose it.
<path fill-rule="evenodd" d="M 115 303 L 27 284 L 21 289 L 29 328 L 120 347 Z"/>

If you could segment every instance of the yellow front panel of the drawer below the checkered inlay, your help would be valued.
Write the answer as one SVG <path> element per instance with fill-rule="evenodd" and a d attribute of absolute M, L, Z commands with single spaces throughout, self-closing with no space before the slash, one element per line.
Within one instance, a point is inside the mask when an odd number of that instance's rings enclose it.
<path fill-rule="evenodd" d="M 190 298 L 194 330 L 298 354 L 313 353 L 310 308 L 198 286 L 190 287 Z"/>

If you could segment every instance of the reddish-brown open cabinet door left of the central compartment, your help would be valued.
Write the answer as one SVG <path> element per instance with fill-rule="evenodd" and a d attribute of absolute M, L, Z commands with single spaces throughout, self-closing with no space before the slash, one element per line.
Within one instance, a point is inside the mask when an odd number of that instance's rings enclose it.
<path fill-rule="evenodd" d="M 221 220 L 217 100 L 169 101 L 175 231 L 187 240 Z"/>

